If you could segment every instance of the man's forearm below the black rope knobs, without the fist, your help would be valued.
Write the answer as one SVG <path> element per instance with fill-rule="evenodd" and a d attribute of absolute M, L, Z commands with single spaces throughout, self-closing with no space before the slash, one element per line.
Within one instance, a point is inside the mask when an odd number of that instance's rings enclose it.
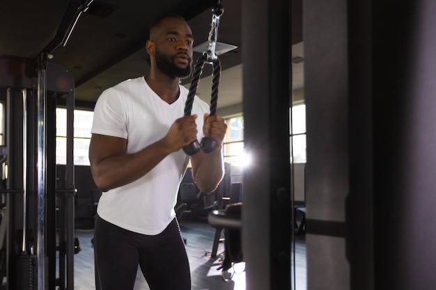
<path fill-rule="evenodd" d="M 201 161 L 196 163 L 198 166 L 193 171 L 194 181 L 203 193 L 210 193 L 215 191 L 224 176 L 223 157 L 219 149 L 210 154 L 201 152 L 201 155 Z"/>

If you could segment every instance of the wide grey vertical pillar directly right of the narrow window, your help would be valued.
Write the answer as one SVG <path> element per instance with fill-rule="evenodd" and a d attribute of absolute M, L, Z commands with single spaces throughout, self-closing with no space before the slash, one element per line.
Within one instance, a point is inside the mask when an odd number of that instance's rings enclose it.
<path fill-rule="evenodd" d="M 347 1 L 303 2 L 308 290 L 350 289 Z"/>

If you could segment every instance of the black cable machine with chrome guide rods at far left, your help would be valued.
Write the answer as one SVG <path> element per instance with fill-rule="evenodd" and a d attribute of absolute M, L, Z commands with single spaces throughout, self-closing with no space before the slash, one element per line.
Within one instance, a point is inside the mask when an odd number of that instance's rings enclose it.
<path fill-rule="evenodd" d="M 67 68 L 49 58 L 92 1 L 71 0 L 56 35 L 35 57 L 0 57 L 1 289 L 74 289 L 75 83 Z M 67 108 L 66 166 L 56 174 L 61 99 Z"/>

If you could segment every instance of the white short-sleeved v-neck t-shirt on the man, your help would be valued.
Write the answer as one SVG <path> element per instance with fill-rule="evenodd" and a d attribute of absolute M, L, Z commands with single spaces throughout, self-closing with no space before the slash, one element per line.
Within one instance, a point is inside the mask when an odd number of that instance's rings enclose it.
<path fill-rule="evenodd" d="M 184 115 L 188 90 L 168 104 L 148 86 L 143 77 L 123 81 L 102 92 L 95 104 L 92 134 L 127 139 L 127 154 L 138 152 L 162 139 L 174 120 Z M 194 98 L 198 136 L 203 137 L 203 114 L 209 106 Z M 132 232 L 154 235 L 162 232 L 176 216 L 178 187 L 189 156 L 179 150 L 166 156 L 155 168 L 135 182 L 104 192 L 98 215 Z"/>

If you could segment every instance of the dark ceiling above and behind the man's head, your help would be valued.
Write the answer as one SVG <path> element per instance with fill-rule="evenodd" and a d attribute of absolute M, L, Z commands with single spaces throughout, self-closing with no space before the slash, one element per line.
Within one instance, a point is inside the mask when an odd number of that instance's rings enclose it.
<path fill-rule="evenodd" d="M 291 2 L 292 37 L 293 43 L 297 43 L 302 41 L 302 0 Z M 52 61 L 67 67 L 74 76 L 75 99 L 93 103 L 109 86 L 148 72 L 144 45 L 153 19 L 165 13 L 182 15 L 192 28 L 195 47 L 208 40 L 211 8 L 217 1 L 94 0 L 79 17 L 65 47 L 61 44 L 56 47 L 53 43 L 61 42 L 59 35 L 65 35 L 65 23 L 70 26 L 65 19 L 74 19 L 77 8 L 84 6 L 83 3 L 85 1 L 81 0 L 3 1 L 0 10 L 0 56 L 33 58 L 43 50 L 52 51 Z M 242 7 L 241 0 L 224 0 L 221 5 L 224 14 L 220 19 L 218 41 L 238 47 L 219 56 L 224 72 L 231 67 L 242 67 Z M 60 32 L 58 38 L 56 32 Z M 194 53 L 194 61 L 200 55 Z M 202 76 L 210 72 L 205 66 Z M 221 79 L 225 79 L 222 74 Z M 187 82 L 189 79 L 184 84 Z M 223 86 L 222 83 L 220 86 Z M 235 86 L 240 87 L 240 83 Z M 219 105 L 241 102 L 240 97 L 224 100 Z"/>

